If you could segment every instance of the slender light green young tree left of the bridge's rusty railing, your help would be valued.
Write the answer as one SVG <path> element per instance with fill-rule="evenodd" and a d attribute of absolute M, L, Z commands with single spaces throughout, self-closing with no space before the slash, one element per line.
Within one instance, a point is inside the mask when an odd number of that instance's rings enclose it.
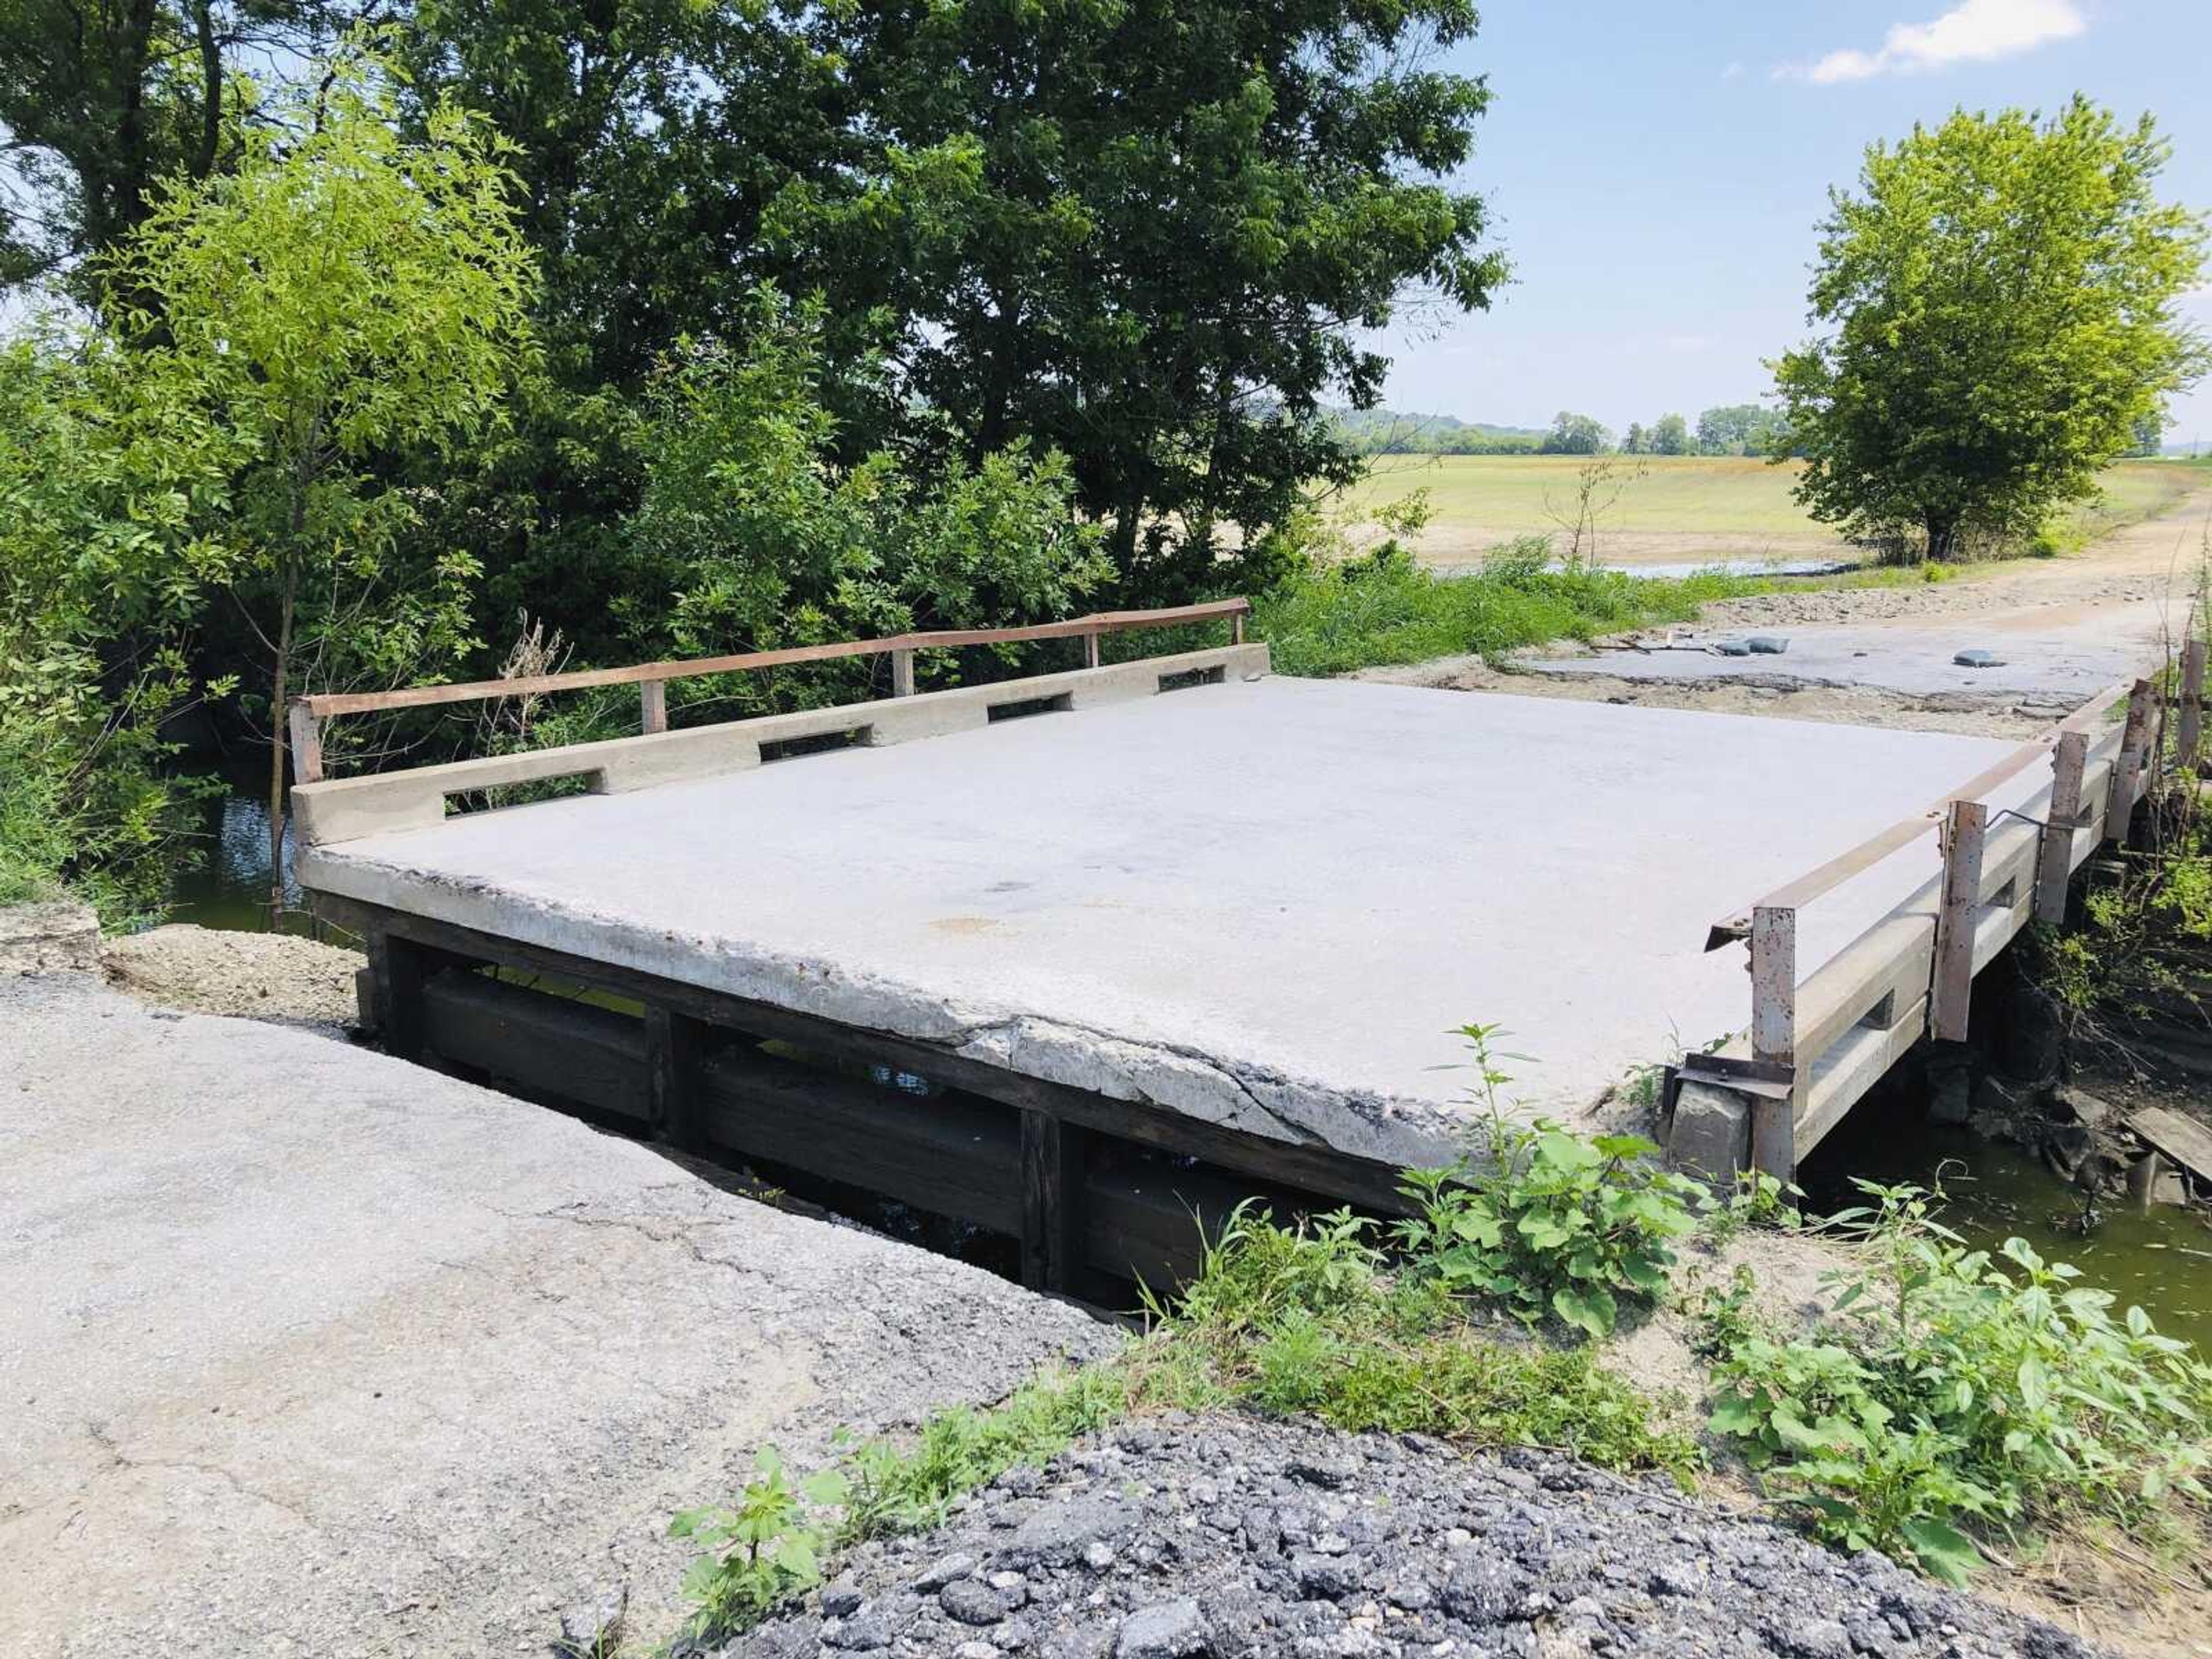
<path fill-rule="evenodd" d="M 380 66 L 345 51 L 237 173 L 161 192 L 115 265 L 148 296 L 122 323 L 133 385 L 237 451 L 232 509 L 204 557 L 261 646 L 270 856 L 281 902 L 283 710 L 341 677 L 392 679 L 473 644 L 465 555 L 398 568 L 416 518 L 378 460 L 451 456 L 504 418 L 533 352 L 533 270 L 500 142 L 431 111 L 403 139 Z"/>

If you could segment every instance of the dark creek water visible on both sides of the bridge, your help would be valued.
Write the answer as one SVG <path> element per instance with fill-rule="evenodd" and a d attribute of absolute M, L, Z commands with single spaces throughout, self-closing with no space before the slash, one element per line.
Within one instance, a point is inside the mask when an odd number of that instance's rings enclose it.
<path fill-rule="evenodd" d="M 206 803 L 206 856 L 177 878 L 173 920 L 259 931 L 268 927 L 268 801 L 237 790 Z M 292 878 L 285 830 L 285 929 L 305 933 L 301 889 Z M 2212 1225 L 2203 1210 L 2124 1199 L 2097 1206 L 2084 1228 L 2081 1199 L 2042 1159 L 2020 1146 L 1986 1141 L 1927 1121 L 1907 1091 L 1885 1091 L 1854 1110 L 1805 1164 L 1807 1210 L 1832 1214 L 1860 1199 L 1851 1177 L 1911 1181 L 1944 1190 L 1942 1221 L 1971 1245 L 1995 1250 L 2026 1239 L 2051 1261 L 2070 1261 L 2086 1283 L 2110 1290 L 2121 1307 L 2141 1305 L 2159 1329 L 2212 1354 Z"/>

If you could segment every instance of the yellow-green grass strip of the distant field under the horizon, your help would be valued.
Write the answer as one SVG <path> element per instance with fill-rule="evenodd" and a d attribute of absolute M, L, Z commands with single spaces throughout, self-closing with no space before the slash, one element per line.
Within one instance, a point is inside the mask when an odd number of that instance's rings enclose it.
<path fill-rule="evenodd" d="M 1648 467 L 1606 515 L 1613 535 L 1772 535 L 1832 540 L 1792 500 L 1796 465 L 1774 467 L 1739 456 L 1619 456 Z M 1566 509 L 1582 456 L 1378 456 L 1352 493 L 1356 522 L 1374 509 L 1429 491 L 1433 542 L 1471 533 L 1493 538 L 1557 529 L 1546 500 Z M 2106 500 L 2070 515 L 2077 533 L 2101 535 L 2174 504 L 2205 482 L 2205 471 L 2170 460 L 2126 460 L 2106 473 Z"/>

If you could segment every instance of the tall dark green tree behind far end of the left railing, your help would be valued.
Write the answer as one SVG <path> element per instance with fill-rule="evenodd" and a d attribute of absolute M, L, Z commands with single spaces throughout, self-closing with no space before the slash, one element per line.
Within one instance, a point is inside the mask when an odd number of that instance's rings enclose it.
<path fill-rule="evenodd" d="M 796 179 L 770 237 L 885 319 L 909 445 L 1062 449 L 1124 573 L 1214 577 L 1356 456 L 1363 330 L 1409 285 L 1504 281 L 1444 179 L 1489 93 L 1438 69 L 1467 0 L 867 0 L 836 18 L 858 170 Z"/>

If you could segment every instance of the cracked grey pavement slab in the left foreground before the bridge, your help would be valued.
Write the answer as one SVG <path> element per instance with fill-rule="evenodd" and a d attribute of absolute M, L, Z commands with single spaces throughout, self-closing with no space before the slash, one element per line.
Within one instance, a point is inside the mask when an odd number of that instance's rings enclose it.
<path fill-rule="evenodd" d="M 305 1031 L 0 984 L 0 1657 L 544 1652 L 763 1442 L 1119 1338 Z"/>

